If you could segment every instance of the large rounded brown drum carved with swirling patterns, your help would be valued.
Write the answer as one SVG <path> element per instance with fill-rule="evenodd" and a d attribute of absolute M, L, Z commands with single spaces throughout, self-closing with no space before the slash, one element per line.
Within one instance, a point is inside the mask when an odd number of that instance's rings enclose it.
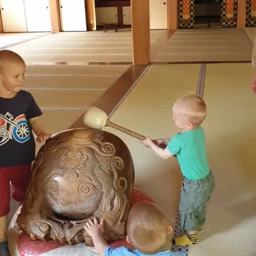
<path fill-rule="evenodd" d="M 116 135 L 72 129 L 47 140 L 36 156 L 17 223 L 33 240 L 92 245 L 88 219 L 105 219 L 104 238 L 123 238 L 134 182 L 132 156 Z"/>

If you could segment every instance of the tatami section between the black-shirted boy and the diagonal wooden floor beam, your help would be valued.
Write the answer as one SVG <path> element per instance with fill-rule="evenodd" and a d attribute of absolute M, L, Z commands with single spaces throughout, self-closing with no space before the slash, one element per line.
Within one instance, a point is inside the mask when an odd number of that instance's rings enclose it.
<path fill-rule="evenodd" d="M 68 129 L 129 67 L 28 65 L 23 88 L 43 111 L 46 131 L 56 133 Z"/>

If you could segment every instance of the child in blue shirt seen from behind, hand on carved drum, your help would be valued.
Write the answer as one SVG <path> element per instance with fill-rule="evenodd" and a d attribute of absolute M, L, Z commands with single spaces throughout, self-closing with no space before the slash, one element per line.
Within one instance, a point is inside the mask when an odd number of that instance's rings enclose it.
<path fill-rule="evenodd" d="M 104 220 L 97 218 L 85 224 L 85 230 L 92 237 L 94 247 L 100 256 L 185 256 L 181 252 L 168 250 L 168 236 L 171 226 L 155 204 L 148 201 L 136 203 L 127 220 L 126 240 L 135 250 L 127 247 L 113 248 L 103 238 Z"/>

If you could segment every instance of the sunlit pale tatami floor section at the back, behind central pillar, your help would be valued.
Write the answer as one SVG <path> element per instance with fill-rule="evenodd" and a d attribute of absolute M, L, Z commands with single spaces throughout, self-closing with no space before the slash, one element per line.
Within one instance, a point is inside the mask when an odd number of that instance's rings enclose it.
<path fill-rule="evenodd" d="M 151 43 L 165 32 L 152 30 Z M 25 62 L 132 62 L 131 31 L 56 33 L 9 47 Z"/>

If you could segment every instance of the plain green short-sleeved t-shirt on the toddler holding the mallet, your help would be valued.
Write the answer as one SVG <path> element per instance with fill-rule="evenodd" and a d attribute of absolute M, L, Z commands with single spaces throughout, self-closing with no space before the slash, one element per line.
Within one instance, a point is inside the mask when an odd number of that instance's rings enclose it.
<path fill-rule="evenodd" d="M 188 180 L 200 180 L 209 174 L 206 138 L 200 126 L 172 136 L 167 149 L 177 156 L 181 172 Z"/>

